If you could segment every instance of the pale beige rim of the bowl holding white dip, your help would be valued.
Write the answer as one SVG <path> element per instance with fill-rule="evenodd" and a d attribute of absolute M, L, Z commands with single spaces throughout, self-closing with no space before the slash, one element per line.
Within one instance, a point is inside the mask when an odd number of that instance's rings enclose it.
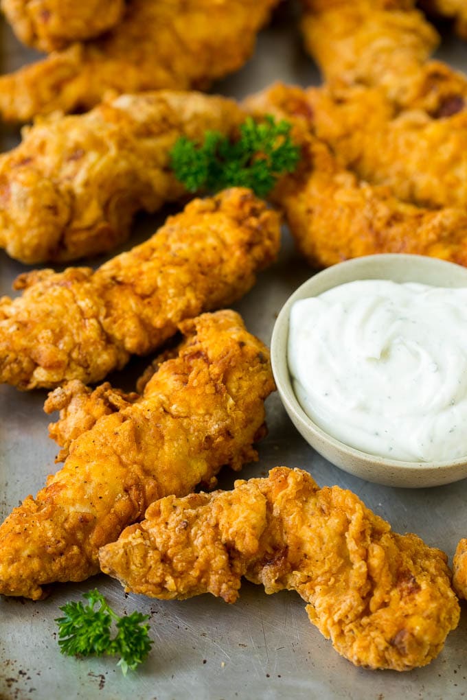
<path fill-rule="evenodd" d="M 357 281 L 358 279 L 393 279 L 391 276 L 381 276 L 381 274 L 371 274 L 371 267 L 378 269 L 380 265 L 383 267 L 390 266 L 395 263 L 398 266 L 403 267 L 410 263 L 410 265 L 421 265 L 421 269 L 438 268 L 445 272 L 454 272 L 457 276 L 465 276 L 464 285 L 453 284 L 452 288 L 466 286 L 467 287 L 467 268 L 461 265 L 456 265 L 454 262 L 448 262 L 447 260 L 440 260 L 439 258 L 430 258 L 425 255 L 412 255 L 407 253 L 379 253 L 375 255 L 362 255 L 360 258 L 352 258 L 351 260 L 345 260 L 344 262 L 339 262 L 336 265 L 327 267 L 312 275 L 303 282 L 294 292 L 291 294 L 284 305 L 281 307 L 279 314 L 277 316 L 276 322 L 274 323 L 274 328 L 272 329 L 271 337 L 271 365 L 272 372 L 274 374 L 274 379 L 276 381 L 277 390 L 281 400 L 286 405 L 286 409 L 292 412 L 294 418 L 302 428 L 314 433 L 314 436 L 320 440 L 327 442 L 330 447 L 333 447 L 336 451 L 340 451 L 346 457 L 358 459 L 361 463 L 365 465 L 374 466 L 375 464 L 379 466 L 392 468 L 392 469 L 405 469 L 410 470 L 414 475 L 421 471 L 434 471 L 443 470 L 445 472 L 458 470 L 462 466 L 467 465 L 467 454 L 464 457 L 459 457 L 455 460 L 446 461 L 431 461 L 431 462 L 410 462 L 396 459 L 389 459 L 387 457 L 382 457 L 377 454 L 371 454 L 370 452 L 365 452 L 363 450 L 357 449 L 356 447 L 351 447 L 345 442 L 341 442 L 337 437 L 329 435 L 326 430 L 320 428 L 302 409 L 298 398 L 293 391 L 290 372 L 288 371 L 288 330 L 289 330 L 289 319 L 290 311 L 292 305 L 295 301 L 306 299 L 309 297 L 321 294 L 323 291 L 331 289 L 335 286 L 346 283 L 347 281 Z M 361 270 L 365 272 L 365 276 L 355 276 L 354 272 Z M 351 279 L 340 280 L 337 283 L 330 283 L 335 279 L 335 277 L 340 276 L 342 272 L 348 272 Z M 368 274 L 370 273 L 370 274 Z M 396 275 L 397 276 L 397 275 Z M 405 281 L 418 281 L 409 280 Z M 328 283 L 329 282 L 329 283 Z M 423 283 L 423 282 L 422 282 Z M 424 282 L 429 284 L 429 282 Z M 320 287 L 323 285 L 322 289 L 316 290 L 316 292 L 309 292 L 309 287 Z M 447 286 L 447 285 L 444 285 Z M 285 332 L 284 332 L 285 331 Z M 282 332 L 285 335 L 284 347 L 279 349 L 280 337 Z M 467 474 L 466 474 L 467 476 Z"/>

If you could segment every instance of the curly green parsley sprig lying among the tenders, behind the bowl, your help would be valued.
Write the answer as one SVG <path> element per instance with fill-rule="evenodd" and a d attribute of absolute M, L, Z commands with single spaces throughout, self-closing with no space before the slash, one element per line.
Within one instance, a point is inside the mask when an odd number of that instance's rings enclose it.
<path fill-rule="evenodd" d="M 293 172 L 300 160 L 290 132 L 285 119 L 276 123 L 267 115 L 261 123 L 247 117 L 237 141 L 214 131 L 206 132 L 203 144 L 180 137 L 170 153 L 172 169 L 188 192 L 238 186 L 265 197 L 279 175 Z"/>

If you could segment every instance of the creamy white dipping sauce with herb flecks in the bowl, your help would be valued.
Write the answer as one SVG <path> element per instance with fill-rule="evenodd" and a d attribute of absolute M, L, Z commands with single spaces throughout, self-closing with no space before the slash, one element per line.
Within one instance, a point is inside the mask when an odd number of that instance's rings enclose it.
<path fill-rule="evenodd" d="M 302 409 L 351 447 L 467 455 L 467 288 L 369 279 L 295 302 L 288 367 Z"/>

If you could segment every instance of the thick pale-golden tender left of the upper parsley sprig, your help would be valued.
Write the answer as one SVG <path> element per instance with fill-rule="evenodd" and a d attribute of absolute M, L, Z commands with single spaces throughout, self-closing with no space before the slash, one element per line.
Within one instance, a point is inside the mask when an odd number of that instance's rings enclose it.
<path fill-rule="evenodd" d="M 186 194 L 169 167 L 176 139 L 233 136 L 243 119 L 230 99 L 161 91 L 40 120 L 0 155 L 0 246 L 27 263 L 110 250 L 136 211 Z"/>

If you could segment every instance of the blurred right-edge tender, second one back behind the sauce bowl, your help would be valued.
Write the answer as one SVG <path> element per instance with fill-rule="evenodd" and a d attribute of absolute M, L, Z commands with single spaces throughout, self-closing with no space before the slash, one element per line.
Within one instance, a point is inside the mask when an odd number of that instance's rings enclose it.
<path fill-rule="evenodd" d="M 365 87 L 307 90 L 306 99 L 316 135 L 361 179 L 421 207 L 467 209 L 467 110 L 400 112 Z"/>

